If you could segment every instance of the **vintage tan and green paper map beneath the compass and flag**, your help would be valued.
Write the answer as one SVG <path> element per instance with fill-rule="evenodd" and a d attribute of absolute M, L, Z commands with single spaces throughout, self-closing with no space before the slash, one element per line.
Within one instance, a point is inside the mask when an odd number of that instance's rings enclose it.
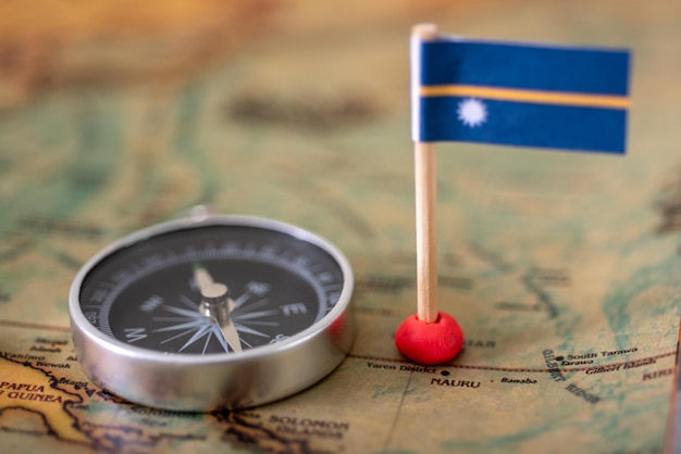
<path fill-rule="evenodd" d="M 681 4 L 28 3 L 0 7 L 3 452 L 671 449 Z M 393 339 L 416 312 L 408 37 L 424 21 L 633 51 L 626 156 L 438 144 L 438 298 L 466 341 L 428 367 Z M 321 382 L 201 414 L 83 373 L 77 270 L 197 205 L 298 225 L 348 256 L 358 333 Z"/>

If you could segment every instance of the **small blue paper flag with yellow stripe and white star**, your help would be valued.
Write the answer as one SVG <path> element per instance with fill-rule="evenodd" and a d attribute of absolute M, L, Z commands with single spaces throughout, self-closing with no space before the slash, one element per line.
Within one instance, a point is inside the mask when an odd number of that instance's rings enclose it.
<path fill-rule="evenodd" d="M 629 52 L 412 38 L 412 138 L 623 154 Z"/>

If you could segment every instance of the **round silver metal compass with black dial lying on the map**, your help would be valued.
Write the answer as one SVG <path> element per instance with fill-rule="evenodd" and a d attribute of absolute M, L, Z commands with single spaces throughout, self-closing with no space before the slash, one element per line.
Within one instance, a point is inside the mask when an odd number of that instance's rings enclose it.
<path fill-rule="evenodd" d="M 128 401 L 249 407 L 330 374 L 355 336 L 347 258 L 299 227 L 208 216 L 132 234 L 69 294 L 83 369 Z"/>

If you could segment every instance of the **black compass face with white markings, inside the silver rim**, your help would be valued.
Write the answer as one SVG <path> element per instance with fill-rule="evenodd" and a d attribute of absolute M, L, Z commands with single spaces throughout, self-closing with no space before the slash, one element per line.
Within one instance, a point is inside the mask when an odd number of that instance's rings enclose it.
<path fill-rule="evenodd" d="M 226 291 L 211 313 L 206 286 L 215 282 Z M 127 345 L 224 354 L 310 328 L 343 285 L 338 262 L 313 242 L 258 226 L 199 225 L 107 256 L 84 279 L 79 304 L 89 323 Z"/>

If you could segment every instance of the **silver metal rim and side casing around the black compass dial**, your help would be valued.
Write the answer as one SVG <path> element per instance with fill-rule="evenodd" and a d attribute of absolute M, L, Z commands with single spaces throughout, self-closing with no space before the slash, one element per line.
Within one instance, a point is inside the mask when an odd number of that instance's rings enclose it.
<path fill-rule="evenodd" d="M 92 325 L 81 306 L 87 276 L 116 252 L 168 232 L 207 226 L 245 226 L 284 234 L 323 250 L 339 267 L 343 288 L 334 307 L 290 338 L 238 353 L 164 353 L 125 343 Z M 143 405 L 175 411 L 238 408 L 298 392 L 330 374 L 355 337 L 354 275 L 327 240 L 278 220 L 243 215 L 183 218 L 135 231 L 104 248 L 77 273 L 69 293 L 74 346 L 85 373 L 112 393 Z"/>

